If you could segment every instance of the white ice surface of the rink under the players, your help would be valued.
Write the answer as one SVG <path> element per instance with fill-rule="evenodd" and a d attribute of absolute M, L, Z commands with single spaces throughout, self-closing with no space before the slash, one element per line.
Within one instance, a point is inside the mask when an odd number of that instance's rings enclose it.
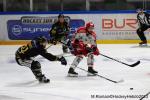
<path fill-rule="evenodd" d="M 39 84 L 29 68 L 16 64 L 14 54 L 18 47 L 0 46 L 0 100 L 139 100 L 150 92 L 150 47 L 98 45 L 102 54 L 125 63 L 141 61 L 132 68 L 103 56 L 95 57 L 94 66 L 99 75 L 115 81 L 123 79 L 122 83 L 89 77 L 78 68 L 79 77 L 67 77 L 74 56 L 66 57 L 67 66 L 38 56 L 36 60 L 41 62 L 43 73 L 51 80 L 48 84 Z M 62 54 L 61 45 L 52 46 L 48 51 Z M 87 70 L 86 58 L 79 67 Z M 142 100 L 150 100 L 150 95 Z"/>

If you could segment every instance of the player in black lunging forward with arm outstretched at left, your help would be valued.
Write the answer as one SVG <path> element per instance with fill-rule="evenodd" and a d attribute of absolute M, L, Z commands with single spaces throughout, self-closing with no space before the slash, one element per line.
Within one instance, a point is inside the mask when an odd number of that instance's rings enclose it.
<path fill-rule="evenodd" d="M 63 56 L 57 57 L 48 53 L 46 44 L 47 39 L 45 37 L 38 37 L 27 45 L 21 46 L 15 54 L 16 62 L 21 66 L 29 67 L 36 79 L 41 83 L 48 83 L 50 80 L 42 73 L 40 62 L 34 60 L 36 56 L 41 55 L 49 61 L 60 61 L 62 65 L 67 65 Z"/>

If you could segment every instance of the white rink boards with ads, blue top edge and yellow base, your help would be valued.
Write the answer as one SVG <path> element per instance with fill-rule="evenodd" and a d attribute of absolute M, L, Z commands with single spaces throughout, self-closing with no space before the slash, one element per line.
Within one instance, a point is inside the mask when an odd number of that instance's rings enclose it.
<path fill-rule="evenodd" d="M 0 13 L 0 44 L 24 44 L 34 37 L 49 38 L 49 30 L 60 12 Z M 138 43 L 138 23 L 135 11 L 78 11 L 62 12 L 73 34 L 78 27 L 92 21 L 95 24 L 97 43 Z M 150 39 L 150 31 L 145 32 Z M 19 40 L 19 41 L 18 41 Z M 21 40 L 21 41 L 20 41 Z"/>

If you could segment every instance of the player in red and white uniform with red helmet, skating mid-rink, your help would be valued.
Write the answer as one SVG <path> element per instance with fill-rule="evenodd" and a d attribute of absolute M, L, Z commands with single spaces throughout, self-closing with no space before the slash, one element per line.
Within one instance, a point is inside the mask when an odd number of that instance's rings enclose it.
<path fill-rule="evenodd" d="M 88 22 L 85 27 L 80 27 L 75 33 L 75 37 L 72 41 L 73 51 L 71 53 L 75 55 L 76 58 L 70 66 L 68 76 L 78 76 L 78 73 L 75 72 L 75 68 L 83 57 L 87 57 L 88 75 L 98 73 L 93 69 L 94 55 L 99 55 L 96 44 L 96 33 L 93 30 L 94 24 Z"/>

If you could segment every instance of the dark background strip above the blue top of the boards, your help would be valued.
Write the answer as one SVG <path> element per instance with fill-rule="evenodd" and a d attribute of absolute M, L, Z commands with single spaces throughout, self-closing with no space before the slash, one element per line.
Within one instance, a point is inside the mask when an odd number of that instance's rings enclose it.
<path fill-rule="evenodd" d="M 0 0 L 6 11 L 95 11 L 150 9 L 150 0 Z"/>

